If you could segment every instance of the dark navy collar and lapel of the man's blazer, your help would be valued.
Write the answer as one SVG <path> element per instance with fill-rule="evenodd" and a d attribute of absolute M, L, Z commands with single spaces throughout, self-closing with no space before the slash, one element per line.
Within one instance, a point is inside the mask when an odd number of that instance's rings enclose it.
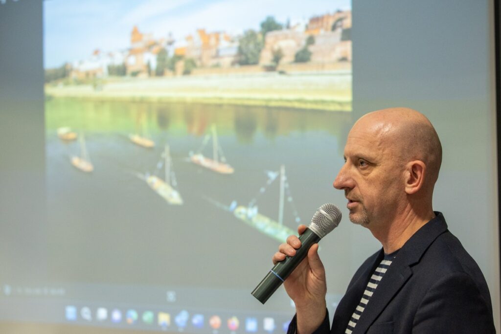
<path fill-rule="evenodd" d="M 358 319 L 353 334 L 365 333 L 367 331 L 369 326 L 384 310 L 394 295 L 412 276 L 411 266 L 420 261 L 430 244 L 445 231 L 447 231 L 447 224 L 445 223 L 442 213 L 435 212 L 435 218 L 424 224 L 409 240 L 407 240 L 402 248 L 400 248 L 397 256 L 388 268 L 388 271 L 386 271 L 383 279 L 378 284 L 367 307 L 365 307 L 360 319 Z M 372 266 L 372 271 L 375 270 L 382 257 L 383 250 L 381 249 L 380 254 L 378 254 Z M 367 284 L 367 279 L 372 274 L 372 271 L 359 280 L 365 281 L 365 284 Z M 360 282 L 357 283 L 358 284 L 355 285 L 361 288 L 361 291 L 364 291 L 365 286 L 361 286 Z"/>

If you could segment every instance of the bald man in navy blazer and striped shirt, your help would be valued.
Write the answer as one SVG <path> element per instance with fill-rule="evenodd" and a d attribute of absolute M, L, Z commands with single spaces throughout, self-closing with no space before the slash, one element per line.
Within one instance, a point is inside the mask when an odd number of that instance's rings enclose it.
<path fill-rule="evenodd" d="M 432 209 L 442 148 L 429 120 L 408 108 L 364 115 L 348 134 L 344 159 L 334 187 L 345 192 L 350 220 L 382 249 L 357 270 L 329 328 L 325 270 L 313 245 L 284 282 L 296 304 L 289 333 L 495 332 L 478 265 Z M 300 245 L 290 236 L 273 262 Z"/>

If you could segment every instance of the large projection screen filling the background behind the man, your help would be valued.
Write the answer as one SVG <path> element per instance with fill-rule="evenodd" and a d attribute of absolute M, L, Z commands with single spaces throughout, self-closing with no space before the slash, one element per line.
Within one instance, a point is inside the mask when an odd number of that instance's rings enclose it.
<path fill-rule="evenodd" d="M 250 292 L 299 224 L 330 314 L 381 245 L 332 182 L 363 114 L 414 108 L 433 198 L 482 269 L 499 330 L 489 1 L 0 1 L 0 330 L 282 333 Z"/>

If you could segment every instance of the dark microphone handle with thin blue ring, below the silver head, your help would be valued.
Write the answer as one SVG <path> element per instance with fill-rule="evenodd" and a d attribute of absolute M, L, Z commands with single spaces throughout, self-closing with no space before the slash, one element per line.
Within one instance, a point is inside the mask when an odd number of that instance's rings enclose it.
<path fill-rule="evenodd" d="M 272 270 L 263 278 L 261 283 L 252 291 L 252 295 L 264 304 L 306 257 L 310 247 L 319 242 L 320 239 L 321 238 L 315 232 L 307 228 L 305 232 L 299 236 L 301 247 L 296 249 L 296 255 L 292 257 L 286 256 L 285 260 L 275 264 Z"/>

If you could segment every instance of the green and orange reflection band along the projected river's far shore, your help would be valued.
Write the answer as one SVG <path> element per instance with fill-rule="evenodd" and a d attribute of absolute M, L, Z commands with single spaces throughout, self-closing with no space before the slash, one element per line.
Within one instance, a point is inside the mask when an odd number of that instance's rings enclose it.
<path fill-rule="evenodd" d="M 70 126 L 86 132 L 133 132 L 155 136 L 172 130 L 172 135 L 203 136 L 211 124 L 221 134 L 234 134 L 249 144 L 263 134 L 268 140 L 293 132 L 345 134 L 351 114 L 262 106 L 232 106 L 186 103 L 82 101 L 51 99 L 46 102 L 46 128 Z"/>

